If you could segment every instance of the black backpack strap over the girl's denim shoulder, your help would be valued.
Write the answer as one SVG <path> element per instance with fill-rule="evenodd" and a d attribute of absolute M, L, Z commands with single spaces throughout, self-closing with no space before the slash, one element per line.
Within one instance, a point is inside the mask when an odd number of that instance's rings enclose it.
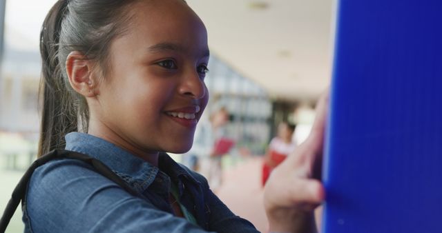
<path fill-rule="evenodd" d="M 45 163 L 48 163 L 48 161 L 52 161 L 54 159 L 77 159 L 79 161 L 84 161 L 85 163 L 92 165 L 99 174 L 102 174 L 106 178 L 117 183 L 117 185 L 119 185 L 120 187 L 124 188 L 126 192 L 129 192 L 134 196 L 139 196 L 142 199 L 146 199 L 146 197 L 142 196 L 142 194 L 140 194 L 139 192 L 133 190 L 133 188 L 131 188 L 128 183 L 126 183 L 121 177 L 115 174 L 115 172 L 108 168 L 108 166 L 104 165 L 104 163 L 102 163 L 101 161 L 78 152 L 73 152 L 69 150 L 52 150 L 52 152 L 49 152 L 48 154 L 45 154 L 44 156 L 41 156 L 39 159 L 34 161 L 34 163 L 30 165 L 28 170 L 26 170 L 25 174 L 23 174 L 23 176 L 21 177 L 19 183 L 12 192 L 12 196 L 8 202 L 8 205 L 6 205 L 3 216 L 1 216 L 0 232 L 6 231 L 6 227 L 8 227 L 10 219 L 12 218 L 12 215 L 14 215 L 15 210 L 17 210 L 20 201 L 24 201 L 26 190 L 28 188 L 28 183 L 30 181 L 32 173 L 39 166 L 44 165 Z"/>

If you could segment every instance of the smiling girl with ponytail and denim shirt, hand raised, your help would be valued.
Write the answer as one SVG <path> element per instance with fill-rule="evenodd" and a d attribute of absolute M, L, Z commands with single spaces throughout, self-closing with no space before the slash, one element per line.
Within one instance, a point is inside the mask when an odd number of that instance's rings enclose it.
<path fill-rule="evenodd" d="M 26 231 L 257 232 L 203 176 L 165 153 L 191 148 L 209 99 L 206 28 L 185 1 L 57 1 L 41 30 L 41 56 L 39 156 L 57 149 L 87 154 L 140 195 L 87 163 L 50 161 L 28 185 Z M 305 163 L 282 171 L 292 165 Z M 275 174 L 265 197 L 270 230 L 313 230 L 305 203 L 322 201 L 320 183 L 296 175 L 291 179 L 304 183 L 291 192 L 296 182 L 279 179 L 289 172 Z"/>

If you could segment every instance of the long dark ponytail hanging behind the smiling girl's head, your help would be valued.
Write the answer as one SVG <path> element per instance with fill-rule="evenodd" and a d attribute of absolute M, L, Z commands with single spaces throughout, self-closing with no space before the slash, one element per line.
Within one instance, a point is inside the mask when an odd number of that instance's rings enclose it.
<path fill-rule="evenodd" d="M 59 63 L 59 35 L 61 21 L 67 10 L 67 0 L 59 0 L 44 20 L 40 34 L 41 81 L 41 131 L 37 156 L 55 149 L 63 149 L 64 135 L 77 131 L 77 111 L 72 104 L 68 83 Z"/>

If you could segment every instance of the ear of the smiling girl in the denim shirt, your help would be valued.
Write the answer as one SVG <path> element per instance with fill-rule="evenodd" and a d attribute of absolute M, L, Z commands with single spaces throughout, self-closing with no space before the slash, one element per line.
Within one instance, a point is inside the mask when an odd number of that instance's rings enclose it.
<path fill-rule="evenodd" d="M 94 72 L 94 61 L 82 52 L 73 51 L 66 58 L 66 73 L 70 86 L 84 97 L 97 96 L 98 77 Z"/>

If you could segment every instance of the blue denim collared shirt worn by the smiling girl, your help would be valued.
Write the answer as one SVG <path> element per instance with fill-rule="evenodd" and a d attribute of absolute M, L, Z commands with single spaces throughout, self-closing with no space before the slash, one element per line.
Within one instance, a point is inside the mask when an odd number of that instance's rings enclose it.
<path fill-rule="evenodd" d="M 160 153 L 155 167 L 108 141 L 79 132 L 66 135 L 66 150 L 102 161 L 142 197 L 129 194 L 87 163 L 50 161 L 35 170 L 28 184 L 25 232 L 258 232 L 211 192 L 203 176 L 166 153 Z M 173 214 L 171 182 L 177 184 L 180 203 L 198 225 Z"/>

